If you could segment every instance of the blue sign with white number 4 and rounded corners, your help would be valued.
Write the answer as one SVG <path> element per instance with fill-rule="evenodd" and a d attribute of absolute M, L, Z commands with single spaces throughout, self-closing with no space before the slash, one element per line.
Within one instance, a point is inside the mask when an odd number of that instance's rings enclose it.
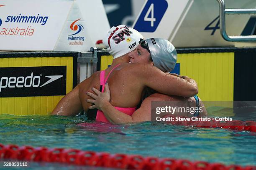
<path fill-rule="evenodd" d="M 148 0 L 139 16 L 134 29 L 139 32 L 154 32 L 166 12 L 166 0 Z"/>

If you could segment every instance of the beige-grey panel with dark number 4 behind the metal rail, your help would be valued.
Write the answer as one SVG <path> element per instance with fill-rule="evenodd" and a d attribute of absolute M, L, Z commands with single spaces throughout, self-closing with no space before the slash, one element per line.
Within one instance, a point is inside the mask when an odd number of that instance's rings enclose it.
<path fill-rule="evenodd" d="M 225 0 L 225 6 L 255 8 L 256 0 Z M 235 45 L 236 42 L 226 41 L 220 34 L 219 11 L 217 0 L 195 0 L 175 37 L 170 37 L 169 40 L 175 47 Z M 249 18 L 250 15 L 226 15 L 227 34 L 241 35 Z"/>

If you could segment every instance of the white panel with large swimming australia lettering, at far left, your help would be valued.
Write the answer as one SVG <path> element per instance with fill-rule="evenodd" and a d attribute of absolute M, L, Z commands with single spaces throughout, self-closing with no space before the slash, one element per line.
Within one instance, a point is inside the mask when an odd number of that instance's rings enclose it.
<path fill-rule="evenodd" d="M 68 0 L 1 0 L 0 50 L 54 50 L 73 3 Z"/>

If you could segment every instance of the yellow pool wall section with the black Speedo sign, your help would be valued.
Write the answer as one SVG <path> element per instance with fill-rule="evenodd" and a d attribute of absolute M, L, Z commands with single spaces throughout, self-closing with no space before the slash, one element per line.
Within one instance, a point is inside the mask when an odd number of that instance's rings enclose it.
<path fill-rule="evenodd" d="M 0 72 L 0 114 L 47 115 L 77 85 L 77 52 L 2 52 Z"/>

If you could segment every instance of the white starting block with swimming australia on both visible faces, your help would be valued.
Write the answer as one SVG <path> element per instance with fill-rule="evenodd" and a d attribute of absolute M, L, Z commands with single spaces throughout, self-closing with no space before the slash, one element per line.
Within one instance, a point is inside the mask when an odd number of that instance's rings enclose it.
<path fill-rule="evenodd" d="M 97 10 L 99 22 L 94 17 Z M 88 51 L 109 29 L 101 0 L 0 2 L 0 50 L 4 51 Z"/>

